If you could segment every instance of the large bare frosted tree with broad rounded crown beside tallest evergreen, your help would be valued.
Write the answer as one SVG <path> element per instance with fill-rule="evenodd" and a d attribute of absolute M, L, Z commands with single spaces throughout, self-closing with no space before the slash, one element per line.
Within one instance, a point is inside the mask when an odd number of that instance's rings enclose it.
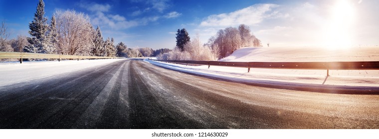
<path fill-rule="evenodd" d="M 87 14 L 75 10 L 54 13 L 58 32 L 58 52 L 65 55 L 90 55 L 93 28 Z"/>

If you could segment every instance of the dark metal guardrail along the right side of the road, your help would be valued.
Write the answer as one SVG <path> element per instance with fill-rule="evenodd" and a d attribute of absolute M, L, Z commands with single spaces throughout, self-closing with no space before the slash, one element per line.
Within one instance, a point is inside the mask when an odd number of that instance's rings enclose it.
<path fill-rule="evenodd" d="M 152 59 L 149 59 L 152 60 Z M 227 66 L 259 69 L 298 69 L 298 70 L 379 70 L 379 61 L 370 62 L 219 62 L 219 61 L 176 61 L 176 60 L 152 60 L 167 63 L 197 64 L 210 66 Z"/>

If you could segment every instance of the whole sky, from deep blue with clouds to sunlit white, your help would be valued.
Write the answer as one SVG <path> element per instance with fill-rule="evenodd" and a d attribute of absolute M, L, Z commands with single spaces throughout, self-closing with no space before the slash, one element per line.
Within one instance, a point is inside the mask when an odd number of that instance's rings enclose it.
<path fill-rule="evenodd" d="M 74 9 L 103 36 L 131 48 L 174 48 L 177 29 L 202 43 L 219 29 L 248 25 L 264 46 L 379 45 L 379 0 L 44 0 L 45 16 Z M 0 0 L 0 20 L 29 36 L 38 0 Z"/>

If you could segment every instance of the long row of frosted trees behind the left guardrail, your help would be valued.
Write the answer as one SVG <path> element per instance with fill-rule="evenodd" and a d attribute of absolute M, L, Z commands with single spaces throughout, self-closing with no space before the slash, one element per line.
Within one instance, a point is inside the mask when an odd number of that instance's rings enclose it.
<path fill-rule="evenodd" d="M 33 20 L 29 23 L 30 37 L 18 35 L 8 40 L 4 21 L 0 26 L 0 51 L 29 52 L 84 56 L 149 57 L 169 49 L 127 48 L 123 42 L 115 45 L 114 38 L 104 40 L 100 27 L 93 28 L 87 14 L 75 10 L 56 10 L 51 19 L 44 16 L 44 2 L 39 0 Z"/>

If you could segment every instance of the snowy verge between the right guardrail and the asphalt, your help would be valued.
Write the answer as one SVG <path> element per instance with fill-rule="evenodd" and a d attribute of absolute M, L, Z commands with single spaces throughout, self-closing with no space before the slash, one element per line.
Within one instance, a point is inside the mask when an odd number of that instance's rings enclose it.
<path fill-rule="evenodd" d="M 330 70 L 331 76 L 326 76 L 326 70 L 279 70 L 279 69 L 251 69 L 220 66 L 186 66 L 145 60 L 151 64 L 172 70 L 180 70 L 199 75 L 213 76 L 231 80 L 243 80 L 250 82 L 281 82 L 301 83 L 317 85 L 342 85 L 342 86 L 373 86 L 379 87 L 378 70 Z M 364 72 L 364 73 L 362 73 Z M 365 76 L 354 76 L 359 73 Z M 340 74 L 340 75 L 339 75 Z M 351 76 L 347 75 L 351 74 Z M 376 75 L 373 75 L 376 74 Z"/>

